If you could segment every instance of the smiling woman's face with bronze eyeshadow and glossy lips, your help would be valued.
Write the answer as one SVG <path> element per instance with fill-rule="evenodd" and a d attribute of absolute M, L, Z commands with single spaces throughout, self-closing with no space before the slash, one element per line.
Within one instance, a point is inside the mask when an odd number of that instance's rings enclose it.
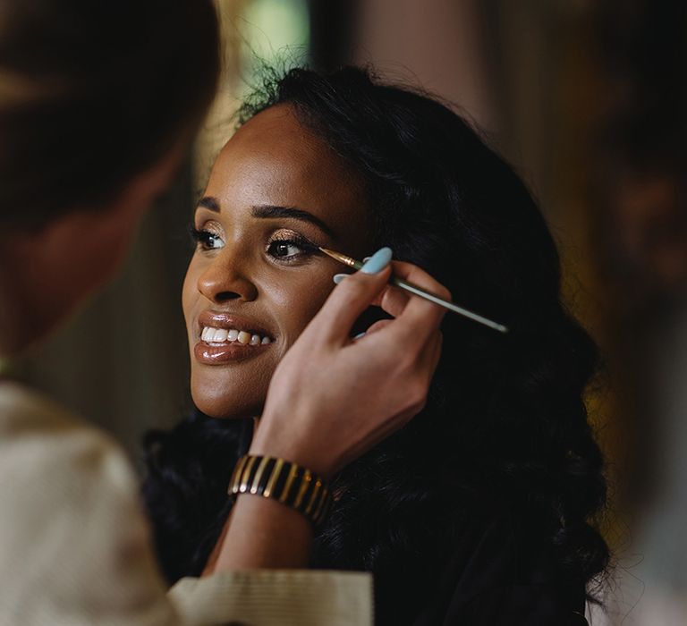
<path fill-rule="evenodd" d="M 193 401 L 217 418 L 259 415 L 279 360 L 345 271 L 307 243 L 371 254 L 365 193 L 289 106 L 273 106 L 225 145 L 195 229 L 183 285 Z"/>

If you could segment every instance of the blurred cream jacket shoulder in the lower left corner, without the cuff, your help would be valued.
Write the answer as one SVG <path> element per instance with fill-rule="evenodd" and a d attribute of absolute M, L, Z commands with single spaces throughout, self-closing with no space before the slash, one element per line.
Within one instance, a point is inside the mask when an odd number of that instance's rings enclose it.
<path fill-rule="evenodd" d="M 0 384 L 0 624 L 177 624 L 123 453 Z"/>

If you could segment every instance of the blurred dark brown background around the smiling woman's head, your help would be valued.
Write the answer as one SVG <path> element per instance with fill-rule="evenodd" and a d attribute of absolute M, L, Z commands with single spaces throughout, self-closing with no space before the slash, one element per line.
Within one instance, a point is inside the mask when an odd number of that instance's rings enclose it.
<path fill-rule="evenodd" d="M 589 408 L 608 457 L 616 567 L 594 623 L 687 623 L 687 3 L 220 0 L 225 76 L 193 159 L 123 274 L 25 375 L 138 460 L 188 408 L 185 225 L 256 58 L 372 63 L 467 115 L 515 165 L 604 354 Z M 284 61 L 285 60 L 285 61 Z M 624 620 L 624 621 L 623 621 Z"/>

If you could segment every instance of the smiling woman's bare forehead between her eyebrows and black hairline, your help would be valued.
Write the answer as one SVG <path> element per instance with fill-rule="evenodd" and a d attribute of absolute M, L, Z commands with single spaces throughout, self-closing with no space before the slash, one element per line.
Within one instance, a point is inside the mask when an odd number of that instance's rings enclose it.
<path fill-rule="evenodd" d="M 223 211 L 298 207 L 335 231 L 352 222 L 369 227 L 360 176 L 286 105 L 262 111 L 233 135 L 213 166 L 206 195 L 218 199 Z"/>

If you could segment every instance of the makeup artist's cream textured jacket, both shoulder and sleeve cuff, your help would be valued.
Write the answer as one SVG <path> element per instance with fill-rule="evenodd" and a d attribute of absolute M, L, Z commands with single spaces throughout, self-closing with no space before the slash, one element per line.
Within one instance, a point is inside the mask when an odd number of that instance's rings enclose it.
<path fill-rule="evenodd" d="M 0 382 L 0 626 L 369 624 L 371 579 L 225 572 L 167 594 L 137 481 L 94 427 Z"/>

